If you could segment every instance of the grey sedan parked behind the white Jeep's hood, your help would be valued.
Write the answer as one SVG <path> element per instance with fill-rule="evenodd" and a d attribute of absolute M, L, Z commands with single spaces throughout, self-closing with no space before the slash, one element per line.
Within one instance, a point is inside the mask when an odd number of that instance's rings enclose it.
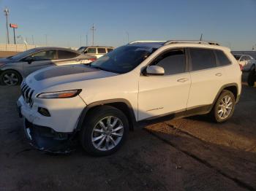
<path fill-rule="evenodd" d="M 0 58 L 1 85 L 19 85 L 31 72 L 48 66 L 91 63 L 97 58 L 60 47 L 37 47 L 18 55 Z"/>

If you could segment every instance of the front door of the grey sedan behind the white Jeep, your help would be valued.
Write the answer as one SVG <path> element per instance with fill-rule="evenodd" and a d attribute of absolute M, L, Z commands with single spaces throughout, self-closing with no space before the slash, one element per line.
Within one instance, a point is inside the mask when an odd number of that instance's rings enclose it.
<path fill-rule="evenodd" d="M 48 66 L 54 66 L 56 50 L 42 50 L 30 55 L 29 57 L 33 58 L 31 63 L 27 62 L 26 58 L 23 59 L 23 72 L 25 76 L 31 74 L 33 71 L 37 71 Z"/>

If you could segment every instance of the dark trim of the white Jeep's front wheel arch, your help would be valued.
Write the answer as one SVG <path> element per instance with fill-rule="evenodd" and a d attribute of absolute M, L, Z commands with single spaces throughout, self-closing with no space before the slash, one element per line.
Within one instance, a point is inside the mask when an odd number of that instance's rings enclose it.
<path fill-rule="evenodd" d="M 113 106 L 117 109 L 120 109 L 121 112 L 124 112 L 124 114 L 127 116 L 127 119 L 129 121 L 129 129 L 134 130 L 134 127 L 136 125 L 136 117 L 132 109 L 132 105 L 126 99 L 118 98 L 105 101 L 96 101 L 87 105 L 80 114 L 78 125 L 76 128 L 77 131 L 79 131 L 83 127 L 83 122 L 86 119 L 86 116 L 88 116 L 88 114 L 92 112 L 95 108 L 100 106 Z"/>

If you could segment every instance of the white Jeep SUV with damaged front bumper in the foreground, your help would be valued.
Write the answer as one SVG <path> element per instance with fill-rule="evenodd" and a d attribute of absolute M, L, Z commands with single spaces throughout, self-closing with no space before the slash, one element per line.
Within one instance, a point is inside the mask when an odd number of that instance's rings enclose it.
<path fill-rule="evenodd" d="M 132 42 L 90 66 L 50 67 L 21 85 L 18 110 L 31 144 L 110 155 L 137 122 L 211 114 L 224 122 L 241 94 L 241 70 L 214 42 Z M 69 149 L 68 149 L 69 148 Z"/>

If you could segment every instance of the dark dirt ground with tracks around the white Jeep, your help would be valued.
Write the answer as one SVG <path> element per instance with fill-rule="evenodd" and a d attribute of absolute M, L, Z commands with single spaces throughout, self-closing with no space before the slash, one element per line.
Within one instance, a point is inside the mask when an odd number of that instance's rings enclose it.
<path fill-rule="evenodd" d="M 0 190 L 256 190 L 256 87 L 243 85 L 228 122 L 140 125 L 108 157 L 31 148 L 15 110 L 19 94 L 0 87 Z"/>

